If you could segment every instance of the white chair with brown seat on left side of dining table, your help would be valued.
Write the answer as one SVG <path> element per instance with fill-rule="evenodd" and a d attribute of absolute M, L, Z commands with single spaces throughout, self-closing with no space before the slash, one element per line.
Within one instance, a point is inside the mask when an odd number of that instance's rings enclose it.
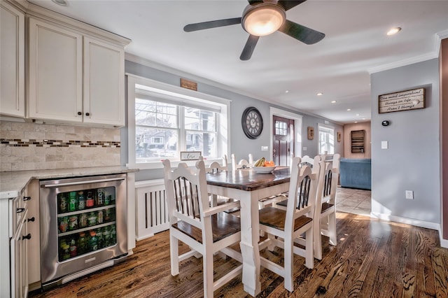
<path fill-rule="evenodd" d="M 165 190 L 169 211 L 169 247 L 172 276 L 179 275 L 179 263 L 200 253 L 202 255 L 204 297 L 213 297 L 214 291 L 239 276 L 242 264 L 214 281 L 214 254 L 221 251 L 242 263 L 241 253 L 230 248 L 241 241 L 239 218 L 222 212 L 237 206 L 232 202 L 222 206 L 209 206 L 204 161 L 195 169 L 180 163 L 171 168 L 169 159 L 163 162 Z M 179 241 L 191 250 L 179 255 Z"/>

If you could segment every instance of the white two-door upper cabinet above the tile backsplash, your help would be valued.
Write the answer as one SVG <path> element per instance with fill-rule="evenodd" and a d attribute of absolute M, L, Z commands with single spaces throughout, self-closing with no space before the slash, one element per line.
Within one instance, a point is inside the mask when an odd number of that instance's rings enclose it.
<path fill-rule="evenodd" d="M 123 127 L 125 45 L 130 41 L 60 15 L 57 19 L 29 15 L 28 24 L 27 117 Z"/>

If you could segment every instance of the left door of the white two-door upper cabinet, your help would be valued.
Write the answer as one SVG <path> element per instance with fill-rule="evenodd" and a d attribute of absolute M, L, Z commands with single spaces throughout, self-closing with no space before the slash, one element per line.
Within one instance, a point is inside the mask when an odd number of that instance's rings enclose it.
<path fill-rule="evenodd" d="M 28 117 L 83 122 L 83 36 L 29 20 Z"/>

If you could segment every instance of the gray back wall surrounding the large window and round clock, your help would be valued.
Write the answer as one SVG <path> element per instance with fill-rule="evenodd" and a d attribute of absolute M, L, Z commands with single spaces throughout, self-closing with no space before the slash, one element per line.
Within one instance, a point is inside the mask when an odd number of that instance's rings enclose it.
<path fill-rule="evenodd" d="M 181 78 L 178 75 L 160 71 L 158 69 L 153 69 L 151 67 L 130 61 L 125 61 L 125 72 L 132 73 L 136 76 L 141 76 L 144 78 L 150 78 L 152 80 L 158 80 L 162 83 L 168 83 L 175 86 L 179 86 Z M 183 78 L 189 79 L 188 76 L 184 76 Z M 270 151 L 261 151 L 261 146 L 269 146 L 269 150 L 272 150 L 272 145 L 270 143 L 271 129 L 269 127 L 269 107 L 271 106 L 280 108 L 290 113 L 296 113 L 297 115 L 303 115 L 302 141 L 304 142 L 304 145 L 302 146 L 307 146 L 307 151 L 303 152 L 303 155 L 309 155 L 312 157 L 314 157 L 314 155 L 317 155 L 317 123 L 323 123 L 324 119 L 309 116 L 298 111 L 293 111 L 288 108 L 276 106 L 275 104 L 269 104 L 265 101 L 260 101 L 258 99 L 246 97 L 235 92 L 207 85 L 205 83 L 201 83 L 199 80 L 197 80 L 197 91 L 204 94 L 214 95 L 216 97 L 222 97 L 223 99 L 230 99 L 232 101 L 232 103 L 230 104 L 230 153 L 234 153 L 237 159 L 248 159 L 248 153 L 252 153 L 254 159 L 258 159 L 260 157 L 270 157 Z M 258 108 L 258 110 L 262 114 L 264 122 L 262 134 L 260 135 L 260 137 L 258 137 L 258 139 L 255 140 L 248 139 L 241 129 L 241 115 L 248 106 L 255 106 L 256 108 Z M 334 126 L 335 132 L 342 132 L 343 127 L 341 125 L 337 125 L 333 122 L 330 122 L 328 125 Z M 315 127 L 315 136 L 313 141 L 307 140 L 307 126 Z M 127 139 L 127 127 L 124 127 L 121 134 L 122 164 L 127 163 Z M 342 154 L 343 152 L 344 148 L 342 146 L 342 143 L 336 143 L 335 153 Z M 228 162 L 230 163 L 230 155 L 228 156 Z M 162 176 L 162 169 L 145 171 L 142 170 L 136 173 L 136 180 L 139 181 L 162 178 Z"/>

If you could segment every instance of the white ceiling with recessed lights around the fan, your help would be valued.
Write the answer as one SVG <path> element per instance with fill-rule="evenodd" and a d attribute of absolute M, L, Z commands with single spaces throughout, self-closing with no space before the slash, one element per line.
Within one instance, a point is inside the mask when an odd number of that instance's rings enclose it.
<path fill-rule="evenodd" d="M 154 65 L 339 123 L 370 120 L 371 72 L 435 58 L 440 37 L 448 37 L 448 1 L 308 0 L 286 18 L 325 33 L 322 41 L 305 45 L 275 32 L 241 61 L 248 34 L 240 24 L 190 33 L 183 27 L 241 17 L 246 0 L 29 2 L 130 38 L 127 54 Z M 391 27 L 402 30 L 386 36 Z"/>

